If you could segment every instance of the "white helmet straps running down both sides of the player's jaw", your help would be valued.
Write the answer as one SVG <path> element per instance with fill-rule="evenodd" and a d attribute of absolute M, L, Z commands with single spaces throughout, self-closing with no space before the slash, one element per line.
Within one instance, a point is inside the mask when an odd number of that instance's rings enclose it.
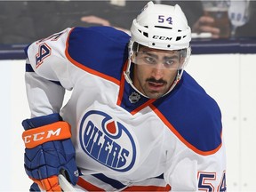
<path fill-rule="evenodd" d="M 136 92 L 139 92 L 142 96 L 150 99 L 147 95 L 143 94 L 142 92 L 140 92 L 134 84 L 132 84 L 132 79 L 130 77 L 130 67 L 131 67 L 131 60 L 129 59 L 128 61 L 128 66 L 126 68 L 126 70 L 124 71 L 124 78 L 125 80 L 127 81 L 128 84 L 130 84 L 132 86 L 132 88 L 136 91 Z M 183 68 L 182 69 L 178 69 L 178 72 L 177 72 L 177 75 L 175 77 L 175 80 L 173 81 L 172 83 L 172 86 L 170 87 L 170 89 L 168 90 L 168 92 L 165 92 L 164 95 L 168 94 L 169 92 L 172 92 L 173 88 L 176 86 L 176 84 L 179 83 L 180 79 L 181 79 L 181 76 L 183 74 Z M 164 97 L 164 95 L 162 95 L 161 97 Z"/>

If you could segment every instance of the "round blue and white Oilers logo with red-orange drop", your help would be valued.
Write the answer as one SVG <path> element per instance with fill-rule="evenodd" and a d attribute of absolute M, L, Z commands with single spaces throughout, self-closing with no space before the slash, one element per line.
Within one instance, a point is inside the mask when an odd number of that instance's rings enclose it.
<path fill-rule="evenodd" d="M 127 172 L 135 163 L 136 148 L 131 133 L 102 111 L 91 110 L 84 115 L 79 140 L 87 155 L 112 170 Z"/>

